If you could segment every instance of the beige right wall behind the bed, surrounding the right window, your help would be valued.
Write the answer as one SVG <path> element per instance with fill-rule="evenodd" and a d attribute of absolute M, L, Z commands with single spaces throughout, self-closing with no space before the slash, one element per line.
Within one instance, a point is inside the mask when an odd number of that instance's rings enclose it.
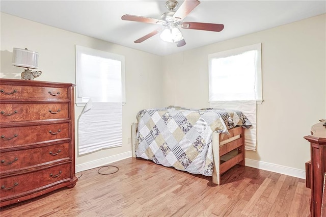
<path fill-rule="evenodd" d="M 305 169 L 311 125 L 326 118 L 325 14 L 163 58 L 165 103 L 206 107 L 208 55 L 262 43 L 264 102 L 247 158 Z"/>

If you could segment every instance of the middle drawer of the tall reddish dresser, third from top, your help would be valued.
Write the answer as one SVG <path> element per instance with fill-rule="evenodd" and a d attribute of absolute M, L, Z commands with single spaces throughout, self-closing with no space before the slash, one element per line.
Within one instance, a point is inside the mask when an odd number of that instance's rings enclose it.
<path fill-rule="evenodd" d="M 69 139 L 69 124 L 0 128 L 0 149 L 49 140 Z"/>

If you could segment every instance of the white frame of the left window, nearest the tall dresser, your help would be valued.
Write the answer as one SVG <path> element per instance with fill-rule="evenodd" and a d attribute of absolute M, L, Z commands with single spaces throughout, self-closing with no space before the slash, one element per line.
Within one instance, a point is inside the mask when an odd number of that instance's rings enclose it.
<path fill-rule="evenodd" d="M 122 97 L 122 105 L 126 103 L 126 85 L 125 85 L 125 57 L 122 55 L 117 55 L 116 53 L 110 53 L 103 50 L 97 50 L 89 47 L 84 47 L 80 45 L 75 45 L 75 104 L 77 106 L 85 106 L 87 101 L 83 101 L 83 98 L 78 98 L 78 69 L 79 69 L 79 61 L 78 57 L 80 54 L 85 53 L 86 55 L 117 60 L 121 62 L 121 97 Z"/>

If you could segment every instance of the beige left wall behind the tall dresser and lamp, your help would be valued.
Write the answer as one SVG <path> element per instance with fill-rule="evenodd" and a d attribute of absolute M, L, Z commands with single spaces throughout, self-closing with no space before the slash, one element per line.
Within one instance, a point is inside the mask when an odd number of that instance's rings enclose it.
<path fill-rule="evenodd" d="M 83 156 L 76 154 L 76 165 L 130 152 L 131 145 L 127 141 L 131 136 L 131 123 L 136 121 L 138 111 L 162 106 L 161 57 L 1 13 L 0 77 L 20 79 L 23 68 L 12 66 L 12 48 L 26 47 L 40 53 L 38 70 L 43 74 L 36 80 L 75 84 L 75 44 L 123 55 L 126 63 L 123 146 Z M 154 96 L 153 90 L 158 97 Z M 76 121 L 82 109 L 75 106 Z"/>

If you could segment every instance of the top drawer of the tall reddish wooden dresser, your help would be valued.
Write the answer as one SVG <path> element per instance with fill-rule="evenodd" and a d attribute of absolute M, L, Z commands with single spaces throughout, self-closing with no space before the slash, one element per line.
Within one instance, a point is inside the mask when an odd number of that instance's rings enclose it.
<path fill-rule="evenodd" d="M 67 88 L 1 85 L 1 99 L 69 99 Z"/>

